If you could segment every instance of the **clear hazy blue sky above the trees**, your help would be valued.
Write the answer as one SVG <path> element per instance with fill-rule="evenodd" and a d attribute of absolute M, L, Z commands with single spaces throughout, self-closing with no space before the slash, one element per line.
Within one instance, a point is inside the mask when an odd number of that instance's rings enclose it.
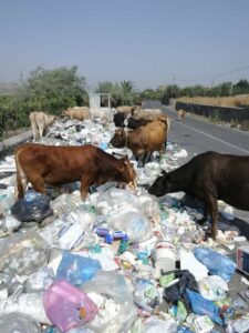
<path fill-rule="evenodd" d="M 0 0 L 0 81 L 73 64 L 92 90 L 249 79 L 217 77 L 249 67 L 249 1 Z"/>

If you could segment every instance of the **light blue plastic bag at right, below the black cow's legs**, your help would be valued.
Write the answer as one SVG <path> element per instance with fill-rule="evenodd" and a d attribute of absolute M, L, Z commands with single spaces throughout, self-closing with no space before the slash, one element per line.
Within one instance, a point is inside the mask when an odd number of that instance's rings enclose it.
<path fill-rule="evenodd" d="M 226 282 L 230 281 L 236 271 L 236 264 L 231 259 L 205 246 L 195 248 L 194 253 L 212 275 L 219 275 Z"/>

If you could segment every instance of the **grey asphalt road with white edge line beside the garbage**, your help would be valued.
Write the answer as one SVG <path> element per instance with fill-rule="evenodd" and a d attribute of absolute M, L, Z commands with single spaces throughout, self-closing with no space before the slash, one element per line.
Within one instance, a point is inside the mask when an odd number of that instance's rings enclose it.
<path fill-rule="evenodd" d="M 143 108 L 160 108 L 170 118 L 168 141 L 180 144 L 188 153 L 186 159 L 179 159 L 180 164 L 206 151 L 249 155 L 249 132 L 247 131 L 215 124 L 189 113 L 183 121 L 179 121 L 176 111 L 157 101 L 144 101 Z M 235 215 L 249 223 L 249 212 L 235 210 Z M 245 229 L 243 224 L 241 223 L 242 229 Z M 245 230 L 243 234 L 248 236 L 249 230 Z"/>

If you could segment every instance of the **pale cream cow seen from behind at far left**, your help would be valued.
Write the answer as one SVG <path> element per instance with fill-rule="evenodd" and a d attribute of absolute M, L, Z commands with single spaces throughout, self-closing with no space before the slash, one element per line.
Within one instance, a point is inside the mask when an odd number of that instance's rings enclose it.
<path fill-rule="evenodd" d="M 33 111 L 30 113 L 29 119 L 33 132 L 33 140 L 37 141 L 42 138 L 44 131 L 55 121 L 56 117 L 44 112 Z"/>

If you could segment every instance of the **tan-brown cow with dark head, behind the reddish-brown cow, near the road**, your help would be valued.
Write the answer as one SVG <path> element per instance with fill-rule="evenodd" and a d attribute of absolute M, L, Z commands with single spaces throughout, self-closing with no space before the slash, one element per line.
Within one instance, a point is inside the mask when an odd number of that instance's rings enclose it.
<path fill-rule="evenodd" d="M 115 148 L 129 148 L 141 167 L 141 164 L 145 164 L 154 151 L 163 152 L 168 129 L 168 118 L 160 117 L 133 131 L 117 129 L 110 143 Z"/>

